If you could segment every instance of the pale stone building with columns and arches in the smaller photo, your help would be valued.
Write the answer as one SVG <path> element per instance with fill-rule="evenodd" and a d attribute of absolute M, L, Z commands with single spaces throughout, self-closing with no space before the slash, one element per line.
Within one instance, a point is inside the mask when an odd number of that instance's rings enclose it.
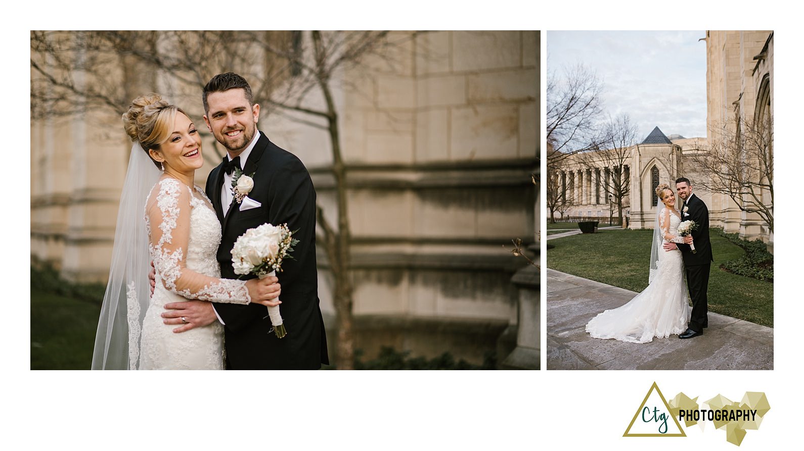
<path fill-rule="evenodd" d="M 630 148 L 624 160 L 630 193 L 624 198 L 628 226 L 652 228 L 659 183 L 673 185 L 677 177 L 687 177 L 695 194 L 709 208 L 710 224 L 723 227 L 741 238 L 761 239 L 773 249 L 773 234 L 756 213 L 745 213 L 730 197 L 695 189 L 695 181 L 710 174 L 701 173 L 691 155 L 708 152 L 723 130 L 734 130 L 735 118 L 751 119 L 773 112 L 773 31 L 707 31 L 707 129 L 708 136 L 684 138 L 666 136 L 658 127 L 640 144 Z M 593 163 L 590 164 L 589 162 Z M 564 216 L 608 220 L 610 205 L 604 178 L 611 169 L 594 152 L 571 156 L 560 173 L 572 206 Z M 765 197 L 770 204 L 769 194 Z M 614 216 L 616 217 L 616 207 Z"/>

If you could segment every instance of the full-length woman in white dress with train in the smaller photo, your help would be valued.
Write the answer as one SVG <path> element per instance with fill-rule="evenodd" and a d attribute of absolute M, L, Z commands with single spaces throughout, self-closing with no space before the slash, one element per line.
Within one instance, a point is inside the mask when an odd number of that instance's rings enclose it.
<path fill-rule="evenodd" d="M 690 307 L 684 285 L 681 251 L 662 249 L 664 242 L 686 242 L 676 229 L 681 216 L 675 209 L 675 194 L 667 184 L 656 188 L 656 223 L 650 252 L 648 286 L 629 303 L 597 315 L 586 331 L 593 338 L 647 343 L 654 337 L 667 338 L 687 331 Z M 660 204 L 663 207 L 660 209 Z"/>

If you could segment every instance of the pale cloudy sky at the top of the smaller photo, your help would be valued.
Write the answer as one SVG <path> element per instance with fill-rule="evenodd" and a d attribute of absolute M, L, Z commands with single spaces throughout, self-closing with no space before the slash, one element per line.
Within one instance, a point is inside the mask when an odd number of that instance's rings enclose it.
<path fill-rule="evenodd" d="M 701 31 L 548 31 L 548 71 L 584 63 L 603 80 L 603 107 L 628 113 L 639 140 L 706 136 L 706 43 Z"/>

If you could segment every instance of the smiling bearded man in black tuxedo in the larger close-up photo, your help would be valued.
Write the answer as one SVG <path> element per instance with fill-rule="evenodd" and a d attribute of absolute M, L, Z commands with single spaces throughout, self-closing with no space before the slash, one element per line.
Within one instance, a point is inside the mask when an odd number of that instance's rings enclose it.
<path fill-rule="evenodd" d="M 237 305 L 188 301 L 169 303 L 162 314 L 179 331 L 224 324 L 227 369 L 318 369 L 329 364 L 326 334 L 318 301 L 315 262 L 315 190 L 310 174 L 296 156 L 273 144 L 256 129 L 260 105 L 248 82 L 232 72 L 219 74 L 203 88 L 203 116 L 207 127 L 227 149 L 218 167 L 207 177 L 207 197 L 221 224 L 218 247 L 221 277 L 238 278 L 231 250 L 246 230 L 265 223 L 287 223 L 299 240 L 293 259 L 285 259 L 281 273 L 281 315 L 287 335 L 278 339 L 268 311 L 259 304 Z M 232 195 L 238 173 L 251 176 L 253 187 L 242 201 Z M 245 179 L 244 179 L 245 180 Z M 246 277 L 253 278 L 254 276 Z"/>

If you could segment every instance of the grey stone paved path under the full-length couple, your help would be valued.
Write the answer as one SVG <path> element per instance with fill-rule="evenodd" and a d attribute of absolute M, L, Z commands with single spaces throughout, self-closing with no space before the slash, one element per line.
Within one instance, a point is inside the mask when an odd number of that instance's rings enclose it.
<path fill-rule="evenodd" d="M 773 369 L 773 328 L 709 313 L 704 335 L 650 343 L 593 339 L 586 323 L 637 293 L 548 269 L 548 370 Z"/>

